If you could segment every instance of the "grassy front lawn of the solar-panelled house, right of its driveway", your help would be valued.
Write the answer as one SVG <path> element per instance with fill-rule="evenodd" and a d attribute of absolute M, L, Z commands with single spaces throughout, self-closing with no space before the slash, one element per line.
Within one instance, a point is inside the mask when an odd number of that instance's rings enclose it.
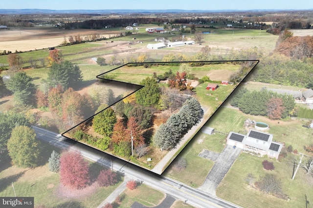
<path fill-rule="evenodd" d="M 308 200 L 312 202 L 312 176 L 305 175 L 303 169 L 299 169 L 292 181 L 293 166 L 292 163 L 288 163 L 288 159 L 283 162 L 271 160 L 275 166 L 274 170 L 263 169 L 262 161 L 264 159 L 247 153 L 241 153 L 217 188 L 217 196 L 245 208 L 305 207 L 305 194 Z M 263 176 L 267 172 L 275 174 L 282 181 L 282 189 L 290 197 L 290 201 L 278 199 L 255 190 L 245 182 L 245 177 L 248 173 L 253 173 L 255 179 L 258 180 L 260 176 Z M 311 177 L 311 179 L 308 177 Z M 308 180 L 311 180 L 311 182 Z"/>

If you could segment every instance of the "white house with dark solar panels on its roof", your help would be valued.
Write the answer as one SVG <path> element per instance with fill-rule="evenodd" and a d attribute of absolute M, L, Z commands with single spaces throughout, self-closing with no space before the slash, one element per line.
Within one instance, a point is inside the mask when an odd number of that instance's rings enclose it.
<path fill-rule="evenodd" d="M 283 144 L 274 142 L 272 139 L 272 134 L 250 129 L 246 135 L 229 132 L 226 140 L 228 145 L 236 146 L 244 151 L 255 152 L 261 156 L 268 155 L 268 157 L 278 159 Z"/>

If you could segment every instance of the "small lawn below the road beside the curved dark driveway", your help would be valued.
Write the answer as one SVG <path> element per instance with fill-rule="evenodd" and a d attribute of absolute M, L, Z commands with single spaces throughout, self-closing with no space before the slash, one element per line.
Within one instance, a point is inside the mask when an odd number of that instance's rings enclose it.
<path fill-rule="evenodd" d="M 119 206 L 114 208 L 130 208 L 134 202 L 147 207 L 154 207 L 165 199 L 165 194 L 145 184 L 141 184 L 134 190 L 125 189 L 120 195 L 122 200 Z"/>

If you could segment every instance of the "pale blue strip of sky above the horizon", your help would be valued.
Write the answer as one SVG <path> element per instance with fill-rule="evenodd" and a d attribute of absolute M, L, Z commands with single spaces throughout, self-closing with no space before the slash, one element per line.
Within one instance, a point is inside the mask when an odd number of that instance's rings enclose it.
<path fill-rule="evenodd" d="M 313 9 L 313 0 L 3 0 L 0 9 Z"/>

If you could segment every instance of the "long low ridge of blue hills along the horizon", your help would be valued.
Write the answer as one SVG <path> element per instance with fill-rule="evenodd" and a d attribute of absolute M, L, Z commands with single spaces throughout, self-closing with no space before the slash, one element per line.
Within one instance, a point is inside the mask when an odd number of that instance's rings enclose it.
<path fill-rule="evenodd" d="M 75 9 L 75 10 L 50 10 L 50 9 L 0 9 L 0 14 L 120 14 L 120 13 L 204 13 L 204 12 L 270 12 L 270 11 L 306 11 L 305 10 L 279 10 L 279 9 L 254 9 L 254 10 L 146 10 L 146 9 Z"/>

